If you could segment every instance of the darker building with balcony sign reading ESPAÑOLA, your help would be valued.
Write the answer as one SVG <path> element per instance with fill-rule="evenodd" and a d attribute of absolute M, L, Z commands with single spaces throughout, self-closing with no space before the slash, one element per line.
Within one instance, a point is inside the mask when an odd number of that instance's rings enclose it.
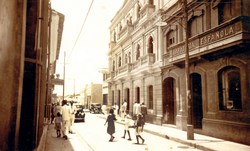
<path fill-rule="evenodd" d="M 161 13 L 163 124 L 186 130 L 185 47 L 188 38 L 191 120 L 205 135 L 249 143 L 249 2 L 188 1 L 187 37 L 183 9 Z M 167 107 L 165 107 L 167 106 Z M 166 114 L 167 113 L 167 114 Z"/>

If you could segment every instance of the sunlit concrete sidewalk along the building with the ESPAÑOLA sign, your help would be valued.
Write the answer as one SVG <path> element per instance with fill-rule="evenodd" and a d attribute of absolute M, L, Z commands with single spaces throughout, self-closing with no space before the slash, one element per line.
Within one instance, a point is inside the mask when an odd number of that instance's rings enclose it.
<path fill-rule="evenodd" d="M 99 118 L 106 119 L 107 115 L 99 114 L 97 115 Z M 132 124 L 131 120 L 131 124 Z M 116 123 L 124 124 L 121 121 L 121 118 L 118 117 Z M 166 139 L 170 139 L 179 143 L 183 143 L 185 145 L 189 145 L 195 147 L 197 149 L 206 150 L 206 151 L 250 151 L 250 146 L 243 145 L 223 139 L 213 138 L 205 135 L 194 134 L 195 140 L 187 140 L 186 131 L 182 131 L 172 127 L 159 126 L 154 124 L 146 123 L 144 127 L 144 131 L 164 137 Z"/>

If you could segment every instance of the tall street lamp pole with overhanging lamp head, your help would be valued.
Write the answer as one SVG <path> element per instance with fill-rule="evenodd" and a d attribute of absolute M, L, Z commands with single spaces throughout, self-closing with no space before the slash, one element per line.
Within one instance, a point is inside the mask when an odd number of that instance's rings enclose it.
<path fill-rule="evenodd" d="M 185 77 L 186 77 L 186 101 L 188 105 L 188 117 L 187 117 L 187 139 L 194 140 L 194 127 L 191 121 L 191 93 L 190 93 L 190 77 L 189 77 L 189 49 L 188 49 L 188 23 L 187 23 L 187 0 L 183 0 L 183 19 L 185 30 Z M 176 16 L 179 17 L 179 16 Z M 166 26 L 166 22 L 158 22 L 157 26 Z"/>

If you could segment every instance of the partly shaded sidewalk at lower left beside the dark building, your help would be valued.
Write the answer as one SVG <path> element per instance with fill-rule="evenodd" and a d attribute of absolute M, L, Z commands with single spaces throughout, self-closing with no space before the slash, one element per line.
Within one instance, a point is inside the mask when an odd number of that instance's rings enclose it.
<path fill-rule="evenodd" d="M 48 125 L 45 151 L 93 151 L 82 136 L 69 134 L 68 139 L 57 137 L 54 124 Z"/>

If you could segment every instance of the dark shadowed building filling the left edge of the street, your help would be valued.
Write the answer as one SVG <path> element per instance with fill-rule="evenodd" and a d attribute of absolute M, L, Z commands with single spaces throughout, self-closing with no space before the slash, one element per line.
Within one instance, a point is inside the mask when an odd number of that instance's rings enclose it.
<path fill-rule="evenodd" d="M 39 151 L 50 118 L 50 1 L 1 0 L 0 14 L 0 150 Z"/>

